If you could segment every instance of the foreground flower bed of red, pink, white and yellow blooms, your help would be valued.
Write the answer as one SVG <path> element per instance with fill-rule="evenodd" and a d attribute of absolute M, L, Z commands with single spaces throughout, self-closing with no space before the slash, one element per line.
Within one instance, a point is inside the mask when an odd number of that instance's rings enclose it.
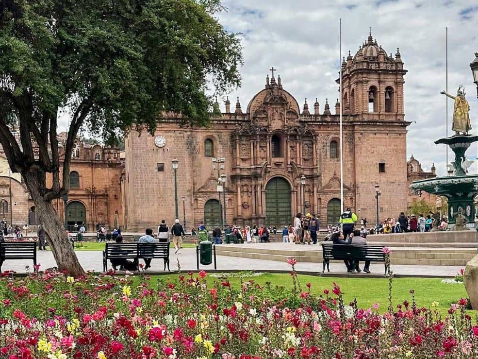
<path fill-rule="evenodd" d="M 253 280 L 208 287 L 206 272 L 153 283 L 147 276 L 60 273 L 0 279 L 0 357 L 30 358 L 473 358 L 478 326 L 467 300 L 441 317 L 438 303 L 379 314 L 342 300 Z M 392 286 L 392 277 L 390 285 Z"/>

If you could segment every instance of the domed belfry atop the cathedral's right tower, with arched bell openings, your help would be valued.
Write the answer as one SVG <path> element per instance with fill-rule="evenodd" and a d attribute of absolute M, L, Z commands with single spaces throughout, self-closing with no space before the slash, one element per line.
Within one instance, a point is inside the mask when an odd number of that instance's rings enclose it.
<path fill-rule="evenodd" d="M 404 120 L 403 76 L 407 70 L 396 50 L 395 58 L 391 53 L 388 56 L 370 31 L 355 56 L 348 52 L 342 63 L 344 115 L 355 115 L 357 120 Z"/>

